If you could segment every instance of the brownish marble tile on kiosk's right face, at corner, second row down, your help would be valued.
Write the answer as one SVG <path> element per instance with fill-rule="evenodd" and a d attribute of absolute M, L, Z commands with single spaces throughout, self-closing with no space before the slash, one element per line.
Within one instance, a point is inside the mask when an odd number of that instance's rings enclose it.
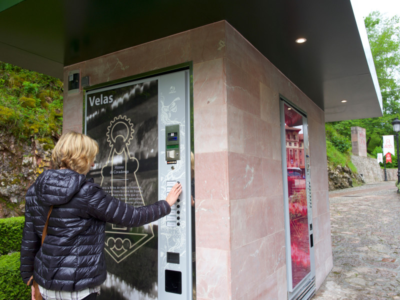
<path fill-rule="evenodd" d="M 260 115 L 259 81 L 226 59 L 226 100 L 254 115 Z"/>

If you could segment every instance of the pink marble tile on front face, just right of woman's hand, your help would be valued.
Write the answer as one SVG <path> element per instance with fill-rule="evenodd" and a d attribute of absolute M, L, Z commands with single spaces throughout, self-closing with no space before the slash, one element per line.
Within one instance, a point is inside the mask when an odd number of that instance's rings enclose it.
<path fill-rule="evenodd" d="M 196 199 L 228 200 L 227 152 L 196 152 L 194 170 Z"/>

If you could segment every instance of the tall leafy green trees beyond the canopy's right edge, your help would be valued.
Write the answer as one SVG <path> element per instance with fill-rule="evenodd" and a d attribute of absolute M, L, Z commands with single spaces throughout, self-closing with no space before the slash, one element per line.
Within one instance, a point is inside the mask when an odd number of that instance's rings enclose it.
<path fill-rule="evenodd" d="M 376 75 L 382 95 L 383 116 L 331 122 L 338 134 L 351 138 L 350 127 L 365 128 L 367 151 L 382 145 L 382 135 L 393 132 L 391 121 L 400 118 L 400 18 L 378 11 L 364 18 Z"/>

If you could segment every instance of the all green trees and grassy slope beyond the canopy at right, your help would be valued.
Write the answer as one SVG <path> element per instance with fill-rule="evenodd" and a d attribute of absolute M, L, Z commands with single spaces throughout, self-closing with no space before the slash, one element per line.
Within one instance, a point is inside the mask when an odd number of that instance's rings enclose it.
<path fill-rule="evenodd" d="M 399 16 L 387 18 L 377 11 L 371 12 L 364 19 L 382 95 L 383 116 L 326 123 L 328 164 L 346 163 L 353 170 L 347 158 L 347 141 L 351 140 L 352 126 L 365 128 L 367 152 L 374 158 L 377 153 L 382 152 L 382 135 L 394 134 L 391 121 L 396 117 L 400 118 L 399 21 Z M 386 167 L 397 167 L 395 155 L 392 155 L 392 163 L 388 163 Z"/>

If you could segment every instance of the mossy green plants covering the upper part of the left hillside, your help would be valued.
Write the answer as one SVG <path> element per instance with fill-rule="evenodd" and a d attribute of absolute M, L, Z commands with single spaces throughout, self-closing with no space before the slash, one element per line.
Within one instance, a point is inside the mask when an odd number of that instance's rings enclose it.
<path fill-rule="evenodd" d="M 62 129 L 63 83 L 34 71 L 0 61 L 0 129 L 21 140 L 44 138 Z"/>

